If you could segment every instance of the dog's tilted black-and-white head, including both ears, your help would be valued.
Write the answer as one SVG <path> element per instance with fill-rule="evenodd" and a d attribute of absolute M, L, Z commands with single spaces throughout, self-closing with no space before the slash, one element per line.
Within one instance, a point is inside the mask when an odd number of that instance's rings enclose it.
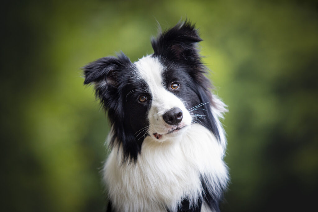
<path fill-rule="evenodd" d="M 160 33 L 152 40 L 154 53 L 135 63 L 121 53 L 84 67 L 84 84 L 95 84 L 111 121 L 110 144 L 119 144 L 126 159 L 136 160 L 147 136 L 158 142 L 176 139 L 192 123 L 219 138 L 199 41 L 194 25 L 183 22 Z"/>

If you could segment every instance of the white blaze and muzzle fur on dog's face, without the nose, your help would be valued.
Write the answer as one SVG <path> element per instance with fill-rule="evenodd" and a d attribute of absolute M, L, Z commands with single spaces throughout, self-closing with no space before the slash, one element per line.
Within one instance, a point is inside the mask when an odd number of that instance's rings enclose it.
<path fill-rule="evenodd" d="M 153 135 L 154 133 L 158 133 L 162 135 L 162 138 L 160 139 L 161 141 L 178 136 L 182 133 L 186 126 L 190 126 L 192 119 L 182 100 L 176 97 L 173 93 L 167 91 L 164 87 L 162 82 L 162 72 L 165 69 L 164 65 L 160 63 L 158 58 L 153 58 L 151 56 L 141 58 L 135 62 L 135 65 L 140 77 L 148 84 L 152 95 L 151 106 L 148 113 L 150 126 L 149 134 Z M 172 82 L 167 82 L 168 85 L 170 85 L 170 83 Z M 182 87 L 182 82 L 180 82 L 180 84 L 180 87 Z M 178 126 L 171 126 L 162 118 L 162 115 L 173 107 L 180 108 L 183 113 L 183 119 Z M 180 131 L 169 133 L 177 127 L 184 128 Z"/>

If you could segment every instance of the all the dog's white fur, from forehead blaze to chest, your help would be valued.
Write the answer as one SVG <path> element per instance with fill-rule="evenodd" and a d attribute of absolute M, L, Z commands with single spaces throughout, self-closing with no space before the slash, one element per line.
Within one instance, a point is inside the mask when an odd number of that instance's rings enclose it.
<path fill-rule="evenodd" d="M 122 164 L 122 148 L 117 146 L 112 149 L 104 167 L 104 180 L 117 211 L 167 211 L 167 207 L 170 211 L 176 211 L 183 197 L 195 200 L 202 195 L 201 175 L 220 182 L 221 187 L 225 188 L 228 181 L 227 167 L 223 161 L 226 139 L 218 120 L 225 112 L 224 103 L 215 97 L 217 106 L 212 107 L 220 133 L 219 142 L 202 125 L 191 125 L 190 113 L 182 99 L 162 86 L 161 72 L 164 67 L 158 59 L 148 56 L 135 65 L 140 77 L 150 86 L 153 98 L 148 114 L 149 134 L 160 133 L 163 136 L 160 140 L 154 136 L 146 137 L 136 163 Z M 175 106 L 183 112 L 180 124 L 187 127 L 175 134 L 165 135 L 171 126 L 164 122 L 162 115 Z M 208 189 L 220 190 L 218 183 L 211 184 Z M 209 209 L 203 204 L 201 211 Z"/>

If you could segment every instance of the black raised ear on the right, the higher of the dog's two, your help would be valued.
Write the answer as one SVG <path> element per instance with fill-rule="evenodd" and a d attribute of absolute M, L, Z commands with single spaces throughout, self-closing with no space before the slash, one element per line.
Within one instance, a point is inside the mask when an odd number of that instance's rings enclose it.
<path fill-rule="evenodd" d="M 197 43 L 200 41 L 202 39 L 195 25 L 186 20 L 163 33 L 160 32 L 156 39 L 152 39 L 151 44 L 157 57 L 191 63 L 199 58 Z"/>

